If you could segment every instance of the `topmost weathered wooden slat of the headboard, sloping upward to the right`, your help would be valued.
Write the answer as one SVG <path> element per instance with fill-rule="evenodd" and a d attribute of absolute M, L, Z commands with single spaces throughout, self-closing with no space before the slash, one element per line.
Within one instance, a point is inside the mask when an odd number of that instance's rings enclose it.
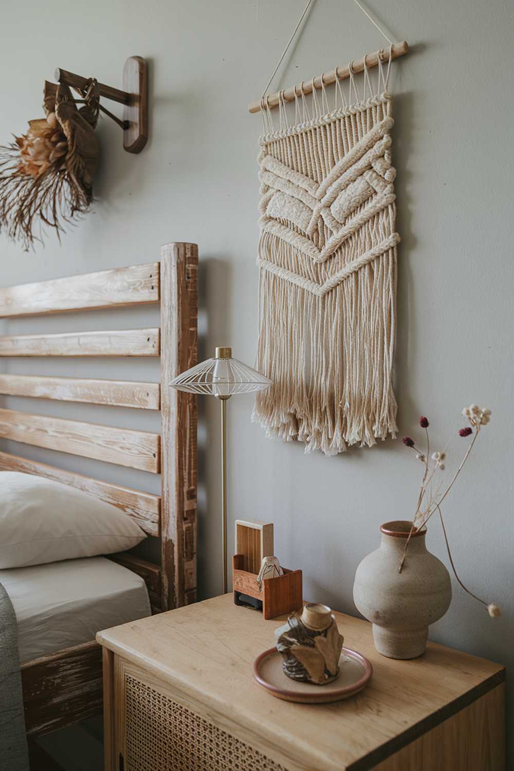
<path fill-rule="evenodd" d="M 0 289 L 0 317 L 159 301 L 159 263 L 131 265 Z"/>

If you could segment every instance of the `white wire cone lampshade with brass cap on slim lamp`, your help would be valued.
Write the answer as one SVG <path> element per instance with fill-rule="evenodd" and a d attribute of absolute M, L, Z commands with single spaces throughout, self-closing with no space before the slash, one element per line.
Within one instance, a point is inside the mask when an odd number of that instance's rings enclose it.
<path fill-rule="evenodd" d="M 247 364 L 232 358 L 231 348 L 216 348 L 216 357 L 206 359 L 181 375 L 170 385 L 179 391 L 227 399 L 236 393 L 250 393 L 269 388 L 271 381 Z"/>

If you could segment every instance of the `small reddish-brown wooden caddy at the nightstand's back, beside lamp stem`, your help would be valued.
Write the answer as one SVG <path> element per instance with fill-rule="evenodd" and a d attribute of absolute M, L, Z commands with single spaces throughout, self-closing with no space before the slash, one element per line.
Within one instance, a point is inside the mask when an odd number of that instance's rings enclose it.
<path fill-rule="evenodd" d="M 282 567 L 283 576 L 265 578 L 262 589 L 257 584 L 262 558 L 271 557 L 274 553 L 272 522 L 236 520 L 236 549 L 237 554 L 232 558 L 235 604 L 253 607 L 244 602 L 241 595 L 254 598 L 262 603 L 266 620 L 302 607 L 301 571 L 290 571 Z"/>

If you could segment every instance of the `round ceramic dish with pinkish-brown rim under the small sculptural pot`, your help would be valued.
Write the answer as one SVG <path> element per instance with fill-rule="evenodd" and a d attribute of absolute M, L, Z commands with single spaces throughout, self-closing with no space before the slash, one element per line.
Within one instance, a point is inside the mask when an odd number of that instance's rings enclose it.
<path fill-rule="evenodd" d="M 255 659 L 254 675 L 259 685 L 271 695 L 277 696 L 277 699 L 322 704 L 338 702 L 355 695 L 368 685 L 373 673 L 368 659 L 351 648 L 341 650 L 339 668 L 339 676 L 324 685 L 292 680 L 282 671 L 282 656 L 277 648 L 270 648 Z"/>

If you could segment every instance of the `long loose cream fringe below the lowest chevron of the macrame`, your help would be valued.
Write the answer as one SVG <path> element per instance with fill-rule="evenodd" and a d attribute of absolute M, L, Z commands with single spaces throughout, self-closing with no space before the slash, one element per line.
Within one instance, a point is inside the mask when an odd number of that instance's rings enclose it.
<path fill-rule="evenodd" d="M 259 255 L 294 265 L 291 244 L 263 233 Z M 392 389 L 396 247 L 319 297 L 260 271 L 259 372 L 252 419 L 267 436 L 333 456 L 395 436 Z"/>

